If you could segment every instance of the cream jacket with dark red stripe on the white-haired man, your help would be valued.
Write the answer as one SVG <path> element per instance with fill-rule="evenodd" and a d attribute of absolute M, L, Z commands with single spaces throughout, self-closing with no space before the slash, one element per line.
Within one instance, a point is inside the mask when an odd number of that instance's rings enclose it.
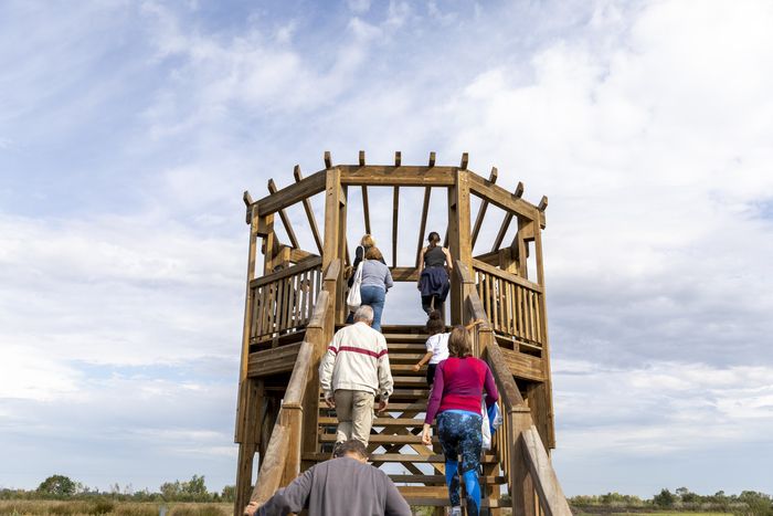
<path fill-rule="evenodd" d="M 384 336 L 361 322 L 336 331 L 319 365 L 319 382 L 326 398 L 346 389 L 389 399 L 394 382 Z"/>

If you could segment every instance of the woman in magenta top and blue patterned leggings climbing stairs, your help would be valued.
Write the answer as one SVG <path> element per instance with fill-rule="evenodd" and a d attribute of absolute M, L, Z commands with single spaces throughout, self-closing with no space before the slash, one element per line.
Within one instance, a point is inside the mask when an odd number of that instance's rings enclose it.
<path fill-rule="evenodd" d="M 422 441 L 427 445 L 432 443 L 431 427 L 437 415 L 437 436 L 445 455 L 451 514 L 460 514 L 462 477 L 467 492 L 467 514 L 477 516 L 480 512 L 478 468 L 483 446 L 480 398 L 485 390 L 486 406 L 490 407 L 499 399 L 499 393 L 486 362 L 472 355 L 467 329 L 456 326 L 448 337 L 448 358 L 435 369 Z"/>

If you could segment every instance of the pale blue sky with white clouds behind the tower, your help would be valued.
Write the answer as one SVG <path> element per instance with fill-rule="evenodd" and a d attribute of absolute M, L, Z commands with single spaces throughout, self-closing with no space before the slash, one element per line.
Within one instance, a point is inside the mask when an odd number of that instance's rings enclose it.
<path fill-rule="evenodd" d="M 0 488 L 233 484 L 242 192 L 400 150 L 549 198 L 568 495 L 773 493 L 771 27 L 743 0 L 1 1 Z M 384 323 L 419 308 L 402 285 Z"/>

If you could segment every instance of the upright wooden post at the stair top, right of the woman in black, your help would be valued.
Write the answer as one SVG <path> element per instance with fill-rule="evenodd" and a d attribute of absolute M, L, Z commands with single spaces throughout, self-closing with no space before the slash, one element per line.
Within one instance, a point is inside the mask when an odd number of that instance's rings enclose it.
<path fill-rule="evenodd" d="M 448 251 L 454 260 L 462 261 L 468 270 L 473 266 L 469 228 L 469 182 L 466 170 L 459 170 L 456 185 L 448 188 Z M 457 274 L 451 277 L 451 324 L 462 324 L 464 298 Z"/>

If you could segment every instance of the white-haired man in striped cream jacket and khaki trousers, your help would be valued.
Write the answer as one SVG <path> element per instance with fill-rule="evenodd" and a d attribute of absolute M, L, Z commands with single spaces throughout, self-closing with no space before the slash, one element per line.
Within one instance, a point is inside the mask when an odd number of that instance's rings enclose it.
<path fill-rule="evenodd" d="M 325 402 L 338 417 L 337 446 L 350 439 L 368 446 L 375 397 L 383 412 L 392 393 L 386 339 L 372 324 L 373 308 L 360 306 L 354 324 L 336 331 L 319 365 Z"/>

